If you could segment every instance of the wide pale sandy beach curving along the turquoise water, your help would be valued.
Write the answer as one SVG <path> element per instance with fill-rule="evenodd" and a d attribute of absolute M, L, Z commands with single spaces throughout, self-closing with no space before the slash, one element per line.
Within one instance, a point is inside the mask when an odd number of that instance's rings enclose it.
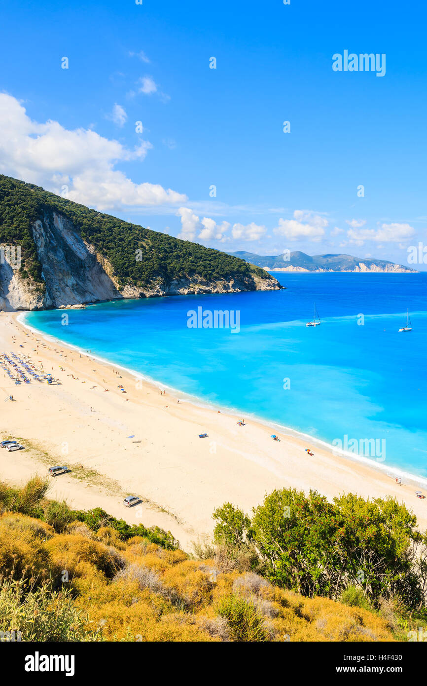
<path fill-rule="evenodd" d="M 160 394 L 158 386 L 137 381 L 114 364 L 29 331 L 17 316 L 0 313 L 0 353 L 30 355 L 61 384 L 15 386 L 0 370 L 1 440 L 14 435 L 33 446 L 0 450 L 0 479 L 21 482 L 36 471 L 45 473 L 48 462 L 74 465 L 75 475 L 54 482 L 52 497 L 64 497 L 76 508 L 100 506 L 129 523 L 159 525 L 187 550 L 191 541 L 212 532 L 212 511 L 223 502 L 251 512 L 266 491 L 284 486 L 316 488 L 329 499 L 350 491 L 393 495 L 417 514 L 420 528 L 427 527 L 427 499 L 415 497 L 417 488 L 408 479 L 398 486 L 386 471 L 335 456 L 313 439 L 247 418 L 239 427 L 241 416 L 178 403 L 173 392 Z M 10 394 L 14 402 L 3 402 Z M 198 438 L 205 432 L 208 438 Z M 97 475 L 95 484 L 90 473 Z M 123 507 L 129 493 L 143 498 L 142 510 Z"/>

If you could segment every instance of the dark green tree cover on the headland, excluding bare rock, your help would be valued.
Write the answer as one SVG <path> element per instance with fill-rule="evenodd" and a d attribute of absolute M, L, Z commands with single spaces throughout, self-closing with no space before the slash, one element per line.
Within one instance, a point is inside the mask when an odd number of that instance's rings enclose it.
<path fill-rule="evenodd" d="M 0 175 L 0 244 L 21 246 L 23 276 L 43 283 L 32 224 L 44 215 L 62 213 L 83 239 L 108 258 L 120 286 L 144 287 L 156 279 L 173 279 L 194 274 L 208 281 L 216 279 L 268 279 L 262 269 L 191 241 L 182 241 L 136 224 L 123 222 L 84 205 L 66 200 L 23 181 Z M 136 251 L 138 259 L 136 259 Z"/>

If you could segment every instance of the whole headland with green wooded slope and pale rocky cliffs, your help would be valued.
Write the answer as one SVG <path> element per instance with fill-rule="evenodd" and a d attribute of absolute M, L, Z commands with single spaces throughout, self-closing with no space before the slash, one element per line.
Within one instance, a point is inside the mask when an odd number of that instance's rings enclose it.
<path fill-rule="evenodd" d="M 21 264 L 7 250 L 21 248 Z M 278 289 L 225 252 L 123 222 L 0 175 L 0 309 L 95 300 Z M 17 254 L 16 254 L 17 255 Z"/>

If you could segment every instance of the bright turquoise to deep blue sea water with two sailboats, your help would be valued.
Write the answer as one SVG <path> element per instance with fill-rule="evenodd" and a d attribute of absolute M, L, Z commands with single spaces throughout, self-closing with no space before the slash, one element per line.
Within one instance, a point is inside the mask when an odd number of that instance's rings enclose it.
<path fill-rule="evenodd" d="M 64 310 L 25 322 L 182 397 L 427 478 L 427 273 L 274 276 L 285 290 L 121 300 L 68 310 L 68 325 Z M 306 327 L 314 303 L 322 323 Z M 239 311 L 240 331 L 189 328 L 199 307 Z M 399 333 L 407 307 L 413 331 Z"/>

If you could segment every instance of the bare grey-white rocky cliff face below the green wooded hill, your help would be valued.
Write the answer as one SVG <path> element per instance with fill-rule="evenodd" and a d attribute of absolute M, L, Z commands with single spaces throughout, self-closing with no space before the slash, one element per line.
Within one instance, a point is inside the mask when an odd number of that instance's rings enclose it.
<path fill-rule="evenodd" d="M 254 274 L 217 281 L 206 281 L 195 274 L 170 283 L 162 278 L 155 279 L 149 287 L 121 287 L 108 259 L 86 243 L 73 223 L 61 213 L 44 213 L 32 225 L 32 233 L 42 264 L 45 288 L 30 276 L 24 278 L 7 261 L 0 263 L 0 310 L 48 309 L 116 298 L 280 288 L 276 279 L 267 274 L 265 278 Z"/>

